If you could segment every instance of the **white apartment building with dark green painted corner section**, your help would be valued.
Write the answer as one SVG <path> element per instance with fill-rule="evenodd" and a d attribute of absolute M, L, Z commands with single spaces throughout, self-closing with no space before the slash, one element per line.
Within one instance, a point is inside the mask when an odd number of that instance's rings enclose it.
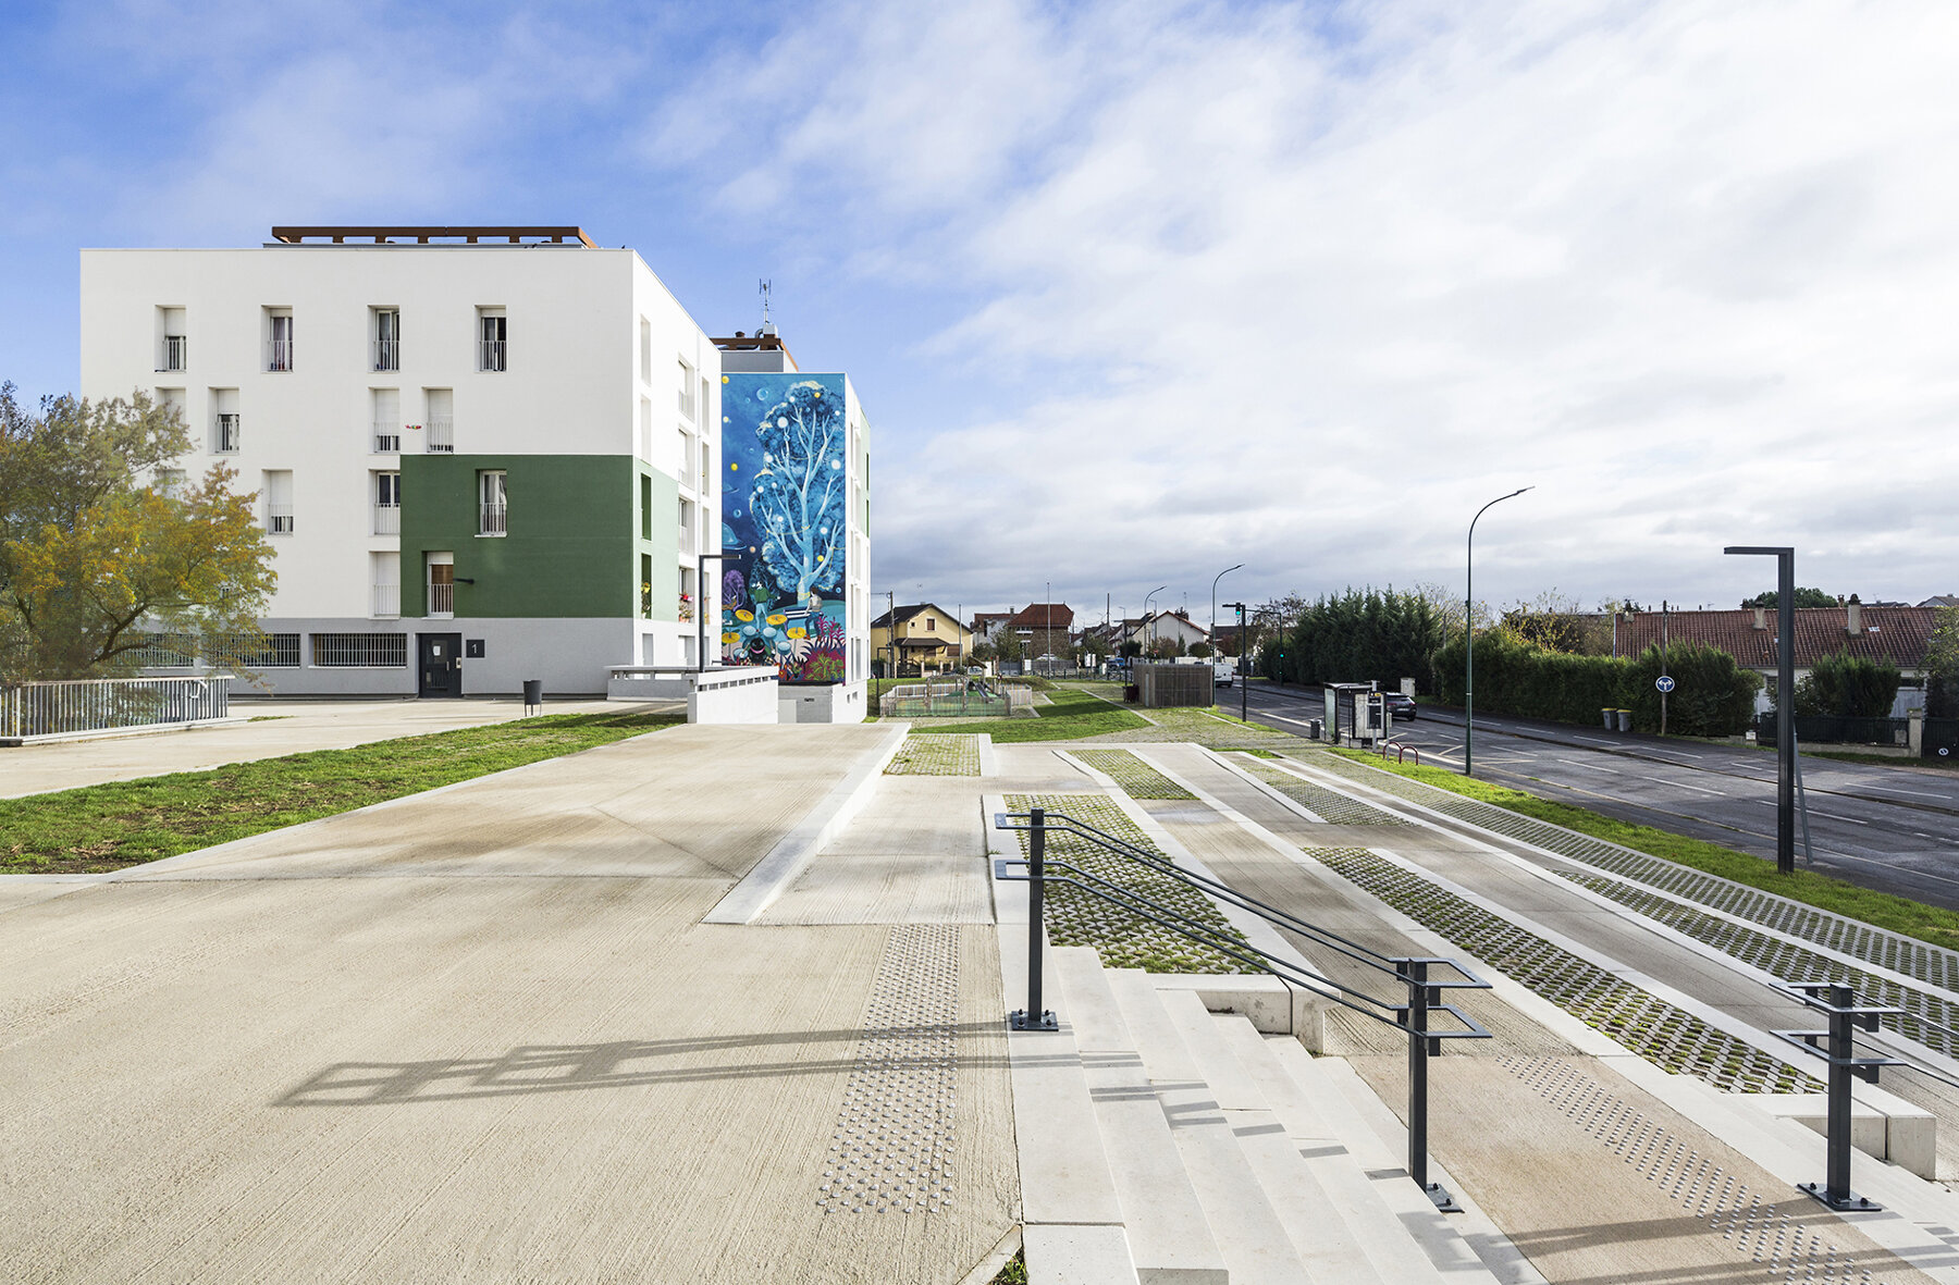
<path fill-rule="evenodd" d="M 576 227 L 274 227 L 80 257 L 82 394 L 257 492 L 270 690 L 603 693 L 719 646 L 721 355 Z M 852 460 L 854 464 L 856 460 Z"/>

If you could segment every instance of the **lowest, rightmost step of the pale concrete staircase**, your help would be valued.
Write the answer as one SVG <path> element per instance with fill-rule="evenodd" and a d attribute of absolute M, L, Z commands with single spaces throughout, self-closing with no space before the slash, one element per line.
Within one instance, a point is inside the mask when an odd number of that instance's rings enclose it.
<path fill-rule="evenodd" d="M 1434 1271 L 1452 1285 L 1497 1285 L 1497 1275 L 1450 1224 L 1450 1214 L 1409 1181 L 1407 1132 L 1354 1068 L 1340 1058 L 1314 1058 L 1299 1044 L 1273 1052 Z"/>

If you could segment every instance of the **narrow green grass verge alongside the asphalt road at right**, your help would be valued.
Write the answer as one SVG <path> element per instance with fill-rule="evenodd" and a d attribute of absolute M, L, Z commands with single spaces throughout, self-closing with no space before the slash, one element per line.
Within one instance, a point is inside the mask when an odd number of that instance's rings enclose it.
<path fill-rule="evenodd" d="M 1816 874 L 1814 870 L 1796 870 L 1794 874 L 1781 876 L 1775 874 L 1773 864 L 1747 852 L 1736 852 L 1734 848 L 1722 848 L 1720 844 L 1710 844 L 1702 838 L 1687 838 L 1685 834 L 1673 834 L 1649 825 L 1614 821 L 1612 817 L 1604 817 L 1585 807 L 1540 799 L 1534 793 L 1524 793 L 1522 789 L 1510 789 L 1506 785 L 1491 785 L 1489 782 L 1457 776 L 1446 768 L 1416 768 L 1412 764 L 1391 762 L 1383 764 L 1377 754 L 1369 754 L 1365 750 L 1330 748 L 1326 752 L 1340 754 L 1342 758 L 1354 758 L 1365 762 L 1369 768 L 1395 772 L 1399 776 L 1418 780 L 1424 785 L 1448 789 L 1450 793 L 1481 799 L 1483 803 L 1491 803 L 1524 817 L 1550 821 L 1552 825 L 1561 825 L 1567 831 L 1579 831 L 1581 834 L 1616 842 L 1636 852 L 1646 852 L 1669 862 L 1679 862 L 1681 866 L 1704 870 L 1706 874 L 1716 874 L 1724 880 L 1734 880 L 1736 883 L 1759 887 L 1779 897 L 1789 897 L 1791 901 L 1802 901 L 1804 905 L 1814 905 L 1816 909 L 1830 911 L 1832 915 L 1857 919 L 1873 928 L 1916 936 L 1922 942 L 1945 946 L 1947 950 L 1959 948 L 1959 913 L 1935 905 L 1924 905 L 1922 901 L 1912 901 L 1908 897 L 1857 887 L 1855 883 L 1845 883 L 1843 880 L 1834 880 L 1826 874 Z"/>

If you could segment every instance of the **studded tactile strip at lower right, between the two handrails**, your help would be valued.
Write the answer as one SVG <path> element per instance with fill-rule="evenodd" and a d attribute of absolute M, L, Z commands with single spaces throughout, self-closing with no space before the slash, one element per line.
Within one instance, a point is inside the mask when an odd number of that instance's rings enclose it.
<path fill-rule="evenodd" d="M 1763 1205 L 1747 1183 L 1569 1062 L 1503 1058 L 1499 1066 L 1634 1166 L 1640 1177 L 1659 1187 L 1689 1216 L 1704 1218 L 1710 1232 L 1720 1232 L 1738 1256 L 1761 1263 L 1771 1277 L 1814 1285 L 1875 1285 L 1871 1271 L 1847 1252 L 1787 1213 L 1777 1213 L 1773 1203 Z"/>

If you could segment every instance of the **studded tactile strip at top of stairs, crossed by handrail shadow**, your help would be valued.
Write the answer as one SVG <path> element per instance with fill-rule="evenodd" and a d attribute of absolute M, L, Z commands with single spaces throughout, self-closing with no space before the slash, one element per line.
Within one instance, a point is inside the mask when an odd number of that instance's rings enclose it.
<path fill-rule="evenodd" d="M 817 1185 L 823 1213 L 927 1214 L 952 1207 L 958 1001 L 960 930 L 891 928 Z"/>

